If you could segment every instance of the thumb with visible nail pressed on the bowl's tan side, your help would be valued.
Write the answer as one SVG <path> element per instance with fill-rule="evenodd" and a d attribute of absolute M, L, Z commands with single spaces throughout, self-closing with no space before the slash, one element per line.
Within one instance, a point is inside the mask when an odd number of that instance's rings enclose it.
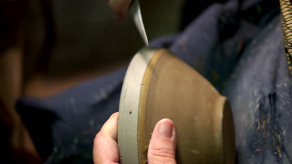
<path fill-rule="evenodd" d="M 148 148 L 148 164 L 176 164 L 174 123 L 169 119 L 159 121 L 153 130 Z"/>

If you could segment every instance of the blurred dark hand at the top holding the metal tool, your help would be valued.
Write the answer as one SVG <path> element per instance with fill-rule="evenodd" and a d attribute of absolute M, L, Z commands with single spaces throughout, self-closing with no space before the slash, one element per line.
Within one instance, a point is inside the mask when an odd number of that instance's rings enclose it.
<path fill-rule="evenodd" d="M 124 18 L 129 10 L 132 0 L 108 0 L 110 8 L 118 18 Z"/>

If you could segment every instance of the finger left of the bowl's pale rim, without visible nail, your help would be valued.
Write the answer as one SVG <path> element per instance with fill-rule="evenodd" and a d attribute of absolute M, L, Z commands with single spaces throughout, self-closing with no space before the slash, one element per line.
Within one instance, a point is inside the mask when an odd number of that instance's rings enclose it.
<path fill-rule="evenodd" d="M 112 114 L 103 124 L 94 140 L 93 158 L 95 164 L 115 164 L 119 161 L 117 144 L 118 112 Z"/>

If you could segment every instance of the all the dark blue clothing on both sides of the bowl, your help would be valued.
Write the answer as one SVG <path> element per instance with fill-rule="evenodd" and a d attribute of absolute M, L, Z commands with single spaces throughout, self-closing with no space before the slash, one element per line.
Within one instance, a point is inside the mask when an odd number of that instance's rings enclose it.
<path fill-rule="evenodd" d="M 240 8 L 249 11 L 257 2 L 244 0 Z M 238 164 L 288 164 L 292 80 L 280 16 L 275 15 L 279 10 L 277 6 L 269 10 L 256 24 L 239 17 L 238 6 L 237 0 L 214 3 L 182 33 L 150 45 L 169 48 L 230 99 Z M 118 111 L 125 71 L 83 82 L 48 99 L 19 100 L 17 110 L 46 163 L 93 163 L 93 139 Z"/>

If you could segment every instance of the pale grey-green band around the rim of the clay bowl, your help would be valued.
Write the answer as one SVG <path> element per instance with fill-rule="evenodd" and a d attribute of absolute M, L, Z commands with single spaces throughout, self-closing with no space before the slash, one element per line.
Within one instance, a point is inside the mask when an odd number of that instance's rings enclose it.
<path fill-rule="evenodd" d="M 120 163 L 139 164 L 137 133 L 141 85 L 148 63 L 158 50 L 159 48 L 151 47 L 139 50 L 127 68 L 119 103 L 118 148 Z"/>

